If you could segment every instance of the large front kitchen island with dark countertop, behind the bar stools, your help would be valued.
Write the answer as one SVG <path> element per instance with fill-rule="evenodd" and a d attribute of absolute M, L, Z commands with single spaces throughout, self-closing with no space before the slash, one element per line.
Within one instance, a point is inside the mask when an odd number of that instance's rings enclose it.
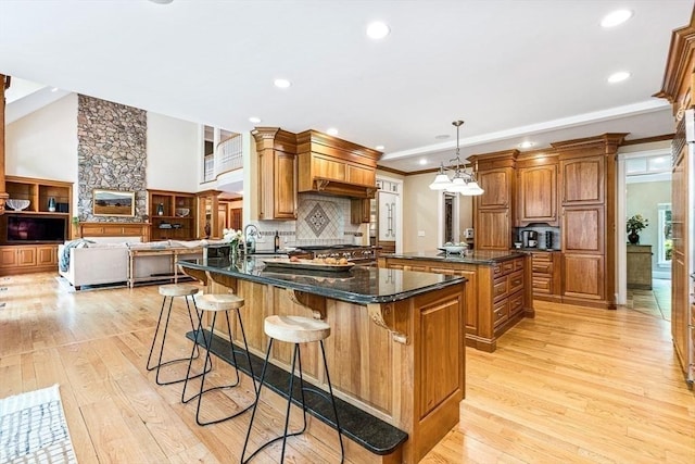
<path fill-rule="evenodd" d="M 458 423 L 465 394 L 466 278 L 374 266 L 304 271 L 270 267 L 264 261 L 250 258 L 230 265 L 226 259 L 201 259 L 179 265 L 191 276 L 208 276 L 212 291 L 231 289 L 244 298 L 241 316 L 256 355 L 264 356 L 267 347 L 265 317 L 313 314 L 326 321 L 331 326 L 326 354 L 336 396 L 407 434 L 397 447 L 378 450 L 357 446 L 361 440 L 346 432 L 355 440 L 345 440 L 346 459 L 422 459 Z M 232 331 L 239 342 L 239 330 Z M 286 344 L 274 346 L 271 362 L 290 371 L 291 347 Z M 316 347 L 302 351 L 302 365 L 305 380 L 327 390 Z"/>

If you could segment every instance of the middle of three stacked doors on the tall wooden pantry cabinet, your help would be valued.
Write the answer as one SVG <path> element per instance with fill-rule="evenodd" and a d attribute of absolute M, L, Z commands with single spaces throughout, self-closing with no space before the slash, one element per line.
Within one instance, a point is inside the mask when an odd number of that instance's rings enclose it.
<path fill-rule="evenodd" d="M 563 251 L 603 254 L 604 234 L 604 206 L 565 209 Z"/>

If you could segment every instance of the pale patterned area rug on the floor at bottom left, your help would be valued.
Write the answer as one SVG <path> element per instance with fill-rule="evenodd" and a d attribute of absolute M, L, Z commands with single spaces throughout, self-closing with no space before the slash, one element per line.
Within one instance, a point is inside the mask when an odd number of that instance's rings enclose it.
<path fill-rule="evenodd" d="M 0 463 L 76 463 L 59 386 L 0 400 Z"/>

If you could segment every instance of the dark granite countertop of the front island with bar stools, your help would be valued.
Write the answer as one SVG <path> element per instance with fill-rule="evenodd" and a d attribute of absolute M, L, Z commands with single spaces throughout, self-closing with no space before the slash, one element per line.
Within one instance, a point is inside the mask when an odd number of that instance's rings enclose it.
<path fill-rule="evenodd" d="M 357 304 L 405 300 L 466 281 L 465 277 L 459 276 L 381 269 L 375 266 L 354 266 L 342 272 L 266 267 L 263 258 L 245 258 L 235 266 L 226 258 L 180 260 L 178 264 Z"/>

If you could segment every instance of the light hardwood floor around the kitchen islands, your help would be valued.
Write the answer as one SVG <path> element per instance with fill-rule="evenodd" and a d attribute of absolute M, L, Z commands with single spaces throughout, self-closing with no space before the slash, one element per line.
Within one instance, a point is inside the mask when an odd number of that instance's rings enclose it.
<path fill-rule="evenodd" d="M 248 414 L 199 427 L 180 385 L 144 369 L 160 302 L 156 286 L 68 293 L 53 274 L 0 278 L 0 398 L 60 384 L 80 463 L 239 462 Z M 695 397 L 669 327 L 648 312 L 536 303 L 497 351 L 467 350 L 460 423 L 424 462 L 694 463 Z M 177 311 L 173 334 L 186 328 Z M 187 355 L 179 340 L 170 354 Z M 250 383 L 226 394 L 220 407 L 243 404 Z M 261 418 L 263 434 L 281 427 L 279 412 Z M 338 462 L 323 438 L 292 439 L 288 462 Z"/>

